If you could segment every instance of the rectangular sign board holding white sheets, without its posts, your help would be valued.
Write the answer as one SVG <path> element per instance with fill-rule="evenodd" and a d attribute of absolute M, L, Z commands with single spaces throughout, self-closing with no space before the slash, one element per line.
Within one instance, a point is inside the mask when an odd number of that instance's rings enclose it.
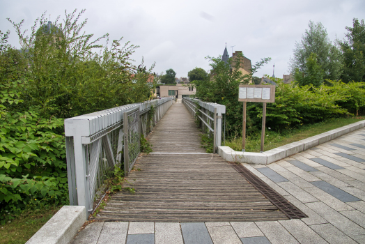
<path fill-rule="evenodd" d="M 275 102 L 274 85 L 240 85 L 238 89 L 240 102 Z"/>

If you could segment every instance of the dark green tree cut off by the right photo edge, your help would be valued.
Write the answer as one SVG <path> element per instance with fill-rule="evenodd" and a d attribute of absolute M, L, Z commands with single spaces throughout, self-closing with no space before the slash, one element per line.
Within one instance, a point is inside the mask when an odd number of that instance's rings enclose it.
<path fill-rule="evenodd" d="M 343 53 L 343 82 L 365 81 L 365 24 L 353 19 L 353 27 L 346 26 L 348 40 L 340 42 Z"/>

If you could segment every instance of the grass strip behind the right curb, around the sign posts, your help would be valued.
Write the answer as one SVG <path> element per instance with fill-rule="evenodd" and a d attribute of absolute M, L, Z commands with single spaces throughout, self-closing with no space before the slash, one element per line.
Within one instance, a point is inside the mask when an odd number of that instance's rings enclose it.
<path fill-rule="evenodd" d="M 288 130 L 285 134 L 273 132 L 266 128 L 265 130 L 265 142 L 264 151 L 268 151 L 272 148 L 284 146 L 286 144 L 297 142 L 308 137 L 334 130 L 350 123 L 355 123 L 364 120 L 364 117 L 357 118 L 338 118 L 330 119 L 321 123 L 312 125 L 302 125 L 301 128 Z M 261 149 L 261 132 L 258 135 L 246 135 L 246 146 L 247 152 L 258 153 Z M 231 147 L 235 151 L 242 151 L 242 137 L 231 139 L 226 141 L 226 146 Z"/>

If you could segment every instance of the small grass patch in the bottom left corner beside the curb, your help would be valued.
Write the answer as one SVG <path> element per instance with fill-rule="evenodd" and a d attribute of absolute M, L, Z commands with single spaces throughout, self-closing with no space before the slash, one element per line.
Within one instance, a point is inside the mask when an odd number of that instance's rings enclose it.
<path fill-rule="evenodd" d="M 10 223 L 0 225 L 0 243 L 26 243 L 61 207 L 26 211 Z"/>

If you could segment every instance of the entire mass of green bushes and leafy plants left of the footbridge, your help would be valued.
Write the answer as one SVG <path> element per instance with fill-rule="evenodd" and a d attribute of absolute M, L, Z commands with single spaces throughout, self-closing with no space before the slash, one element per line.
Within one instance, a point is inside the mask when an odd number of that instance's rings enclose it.
<path fill-rule="evenodd" d="M 83 13 L 65 12 L 53 24 L 44 13 L 30 33 L 24 20 L 8 19 L 20 49 L 8 45 L 10 31 L 0 31 L 1 224 L 26 208 L 68 204 L 64 119 L 150 96 L 154 64 L 134 66 L 138 46 L 122 38 L 109 43 L 108 34 L 83 33 Z"/>

